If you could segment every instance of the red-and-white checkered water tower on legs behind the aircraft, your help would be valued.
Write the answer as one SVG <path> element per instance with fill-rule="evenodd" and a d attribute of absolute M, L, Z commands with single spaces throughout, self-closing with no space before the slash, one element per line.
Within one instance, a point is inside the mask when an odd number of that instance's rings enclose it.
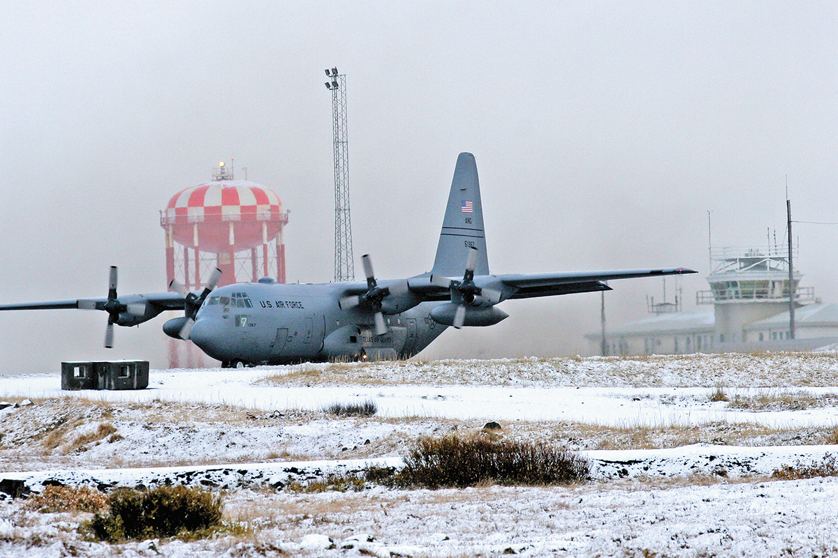
<path fill-rule="evenodd" d="M 212 182 L 184 188 L 160 212 L 166 232 L 166 284 L 176 279 L 187 289 L 202 289 L 214 268 L 219 286 L 271 277 L 285 283 L 282 231 L 288 212 L 276 192 L 255 182 L 235 180 L 222 161 Z M 177 340 L 174 344 L 191 346 Z M 169 364 L 180 366 L 169 351 Z M 199 366 L 187 355 L 187 366 Z"/>

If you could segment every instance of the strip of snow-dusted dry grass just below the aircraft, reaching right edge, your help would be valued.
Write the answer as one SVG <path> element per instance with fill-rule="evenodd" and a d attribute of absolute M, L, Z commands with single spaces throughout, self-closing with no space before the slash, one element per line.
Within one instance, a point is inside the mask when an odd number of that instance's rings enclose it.
<path fill-rule="evenodd" d="M 778 373 L 778 371 L 782 371 Z M 512 358 L 494 361 L 338 362 L 286 366 L 275 386 L 449 384 L 590 387 L 838 386 L 835 353 Z"/>

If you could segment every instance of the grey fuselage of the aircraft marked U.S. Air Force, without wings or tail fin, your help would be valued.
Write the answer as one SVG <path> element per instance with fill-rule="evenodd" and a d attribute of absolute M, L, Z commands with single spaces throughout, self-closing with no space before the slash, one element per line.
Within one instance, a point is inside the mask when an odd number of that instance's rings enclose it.
<path fill-rule="evenodd" d="M 191 339 L 230 366 L 300 361 L 409 358 L 446 329 L 430 317 L 427 302 L 385 317 L 388 331 L 375 335 L 370 313 L 341 310 L 342 284 L 233 284 L 201 306 Z"/>

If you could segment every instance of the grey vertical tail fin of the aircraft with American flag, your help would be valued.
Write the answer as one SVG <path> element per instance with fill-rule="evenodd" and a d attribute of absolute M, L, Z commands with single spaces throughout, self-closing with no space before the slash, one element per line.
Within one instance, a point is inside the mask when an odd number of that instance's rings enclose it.
<path fill-rule="evenodd" d="M 471 153 L 460 153 L 442 232 L 437 244 L 437 257 L 433 261 L 432 274 L 457 277 L 463 274 L 469 248 L 477 248 L 477 264 L 474 274 L 489 274 L 489 257 L 486 254 L 486 237 L 483 228 L 483 204 L 480 202 L 480 182 L 477 164 Z"/>

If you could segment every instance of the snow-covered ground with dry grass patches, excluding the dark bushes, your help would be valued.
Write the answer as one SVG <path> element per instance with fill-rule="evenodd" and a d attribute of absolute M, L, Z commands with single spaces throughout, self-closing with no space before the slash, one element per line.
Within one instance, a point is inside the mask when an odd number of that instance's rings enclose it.
<path fill-rule="evenodd" d="M 78 535 L 85 514 L 6 499 L 0 555 L 838 553 L 836 479 L 770 478 L 838 451 L 835 353 L 152 371 L 139 392 L 59 384 L 57 374 L 0 376 L 0 398 L 34 402 L 0 410 L 0 479 L 34 490 L 214 486 L 229 491 L 227 518 L 251 534 L 111 546 Z M 323 412 L 365 401 L 375 417 Z M 282 489 L 365 462 L 398 466 L 418 436 L 478 432 L 490 420 L 506 437 L 581 450 L 592 482 Z"/>

